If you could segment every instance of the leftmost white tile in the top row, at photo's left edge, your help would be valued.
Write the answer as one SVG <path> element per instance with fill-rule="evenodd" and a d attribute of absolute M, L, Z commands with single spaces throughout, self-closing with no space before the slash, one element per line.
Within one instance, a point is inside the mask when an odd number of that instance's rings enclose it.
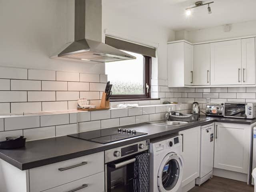
<path fill-rule="evenodd" d="M 21 68 L 0 67 L 0 78 L 28 79 L 28 70 Z"/>

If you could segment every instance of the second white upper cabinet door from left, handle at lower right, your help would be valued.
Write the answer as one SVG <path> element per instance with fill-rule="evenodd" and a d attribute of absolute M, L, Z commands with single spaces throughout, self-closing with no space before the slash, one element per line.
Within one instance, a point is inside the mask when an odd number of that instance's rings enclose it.
<path fill-rule="evenodd" d="M 194 46 L 194 85 L 210 85 L 210 43 Z"/>

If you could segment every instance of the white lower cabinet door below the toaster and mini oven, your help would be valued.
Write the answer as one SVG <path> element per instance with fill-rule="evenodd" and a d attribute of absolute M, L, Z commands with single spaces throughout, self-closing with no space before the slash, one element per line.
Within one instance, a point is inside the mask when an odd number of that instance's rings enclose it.
<path fill-rule="evenodd" d="M 248 174 L 250 125 L 215 123 L 214 168 Z"/>

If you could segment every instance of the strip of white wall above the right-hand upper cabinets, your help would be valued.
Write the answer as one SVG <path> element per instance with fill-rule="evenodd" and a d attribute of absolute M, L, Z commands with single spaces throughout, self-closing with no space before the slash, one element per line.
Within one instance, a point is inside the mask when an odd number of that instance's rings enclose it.
<path fill-rule="evenodd" d="M 256 35 L 256 20 L 231 24 L 231 30 L 229 32 L 224 31 L 224 26 L 188 31 L 188 39 L 186 40 L 190 42 L 203 42 L 250 35 Z"/>

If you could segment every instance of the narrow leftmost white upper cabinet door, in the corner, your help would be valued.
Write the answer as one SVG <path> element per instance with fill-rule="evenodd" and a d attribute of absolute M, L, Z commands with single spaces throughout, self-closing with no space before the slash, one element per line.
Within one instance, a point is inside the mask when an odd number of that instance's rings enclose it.
<path fill-rule="evenodd" d="M 194 85 L 194 46 L 184 43 L 184 83 Z"/>

